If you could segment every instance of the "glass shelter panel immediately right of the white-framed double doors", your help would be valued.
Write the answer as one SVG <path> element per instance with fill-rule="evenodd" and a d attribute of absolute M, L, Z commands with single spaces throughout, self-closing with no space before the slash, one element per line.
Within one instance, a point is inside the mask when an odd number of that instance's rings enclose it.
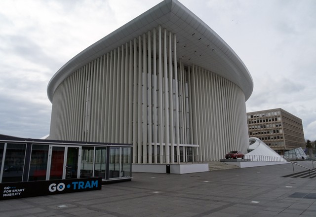
<path fill-rule="evenodd" d="M 82 146 L 80 178 L 93 177 L 94 147 Z"/>

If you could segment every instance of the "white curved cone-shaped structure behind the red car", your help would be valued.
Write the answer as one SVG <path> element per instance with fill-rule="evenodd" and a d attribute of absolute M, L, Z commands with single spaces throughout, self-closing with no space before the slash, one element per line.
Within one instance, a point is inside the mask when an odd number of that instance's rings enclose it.
<path fill-rule="evenodd" d="M 286 162 L 283 157 L 258 138 L 250 137 L 249 144 L 249 149 L 252 150 L 245 154 L 245 159 L 250 159 L 251 161 Z"/>

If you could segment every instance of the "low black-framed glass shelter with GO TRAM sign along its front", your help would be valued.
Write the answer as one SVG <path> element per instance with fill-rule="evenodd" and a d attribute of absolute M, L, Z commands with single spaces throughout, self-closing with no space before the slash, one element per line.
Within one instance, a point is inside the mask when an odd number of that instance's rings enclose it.
<path fill-rule="evenodd" d="M 131 144 L 0 135 L 0 186 L 3 187 L 0 190 L 3 190 L 4 196 L 16 193 L 15 196 L 25 191 L 25 186 L 32 184 L 37 189 L 47 181 L 49 185 L 46 188 L 56 193 L 67 193 L 67 188 L 77 191 L 80 188 L 101 189 L 104 183 L 131 181 L 131 156 Z M 36 195 L 32 193 L 32 196 Z"/>

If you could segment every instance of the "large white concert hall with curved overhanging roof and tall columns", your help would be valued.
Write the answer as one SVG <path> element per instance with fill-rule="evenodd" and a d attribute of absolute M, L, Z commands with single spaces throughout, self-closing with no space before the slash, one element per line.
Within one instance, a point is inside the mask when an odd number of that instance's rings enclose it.
<path fill-rule="evenodd" d="M 247 68 L 197 15 L 164 0 L 51 78 L 51 140 L 133 145 L 133 163 L 217 161 L 249 145 Z"/>

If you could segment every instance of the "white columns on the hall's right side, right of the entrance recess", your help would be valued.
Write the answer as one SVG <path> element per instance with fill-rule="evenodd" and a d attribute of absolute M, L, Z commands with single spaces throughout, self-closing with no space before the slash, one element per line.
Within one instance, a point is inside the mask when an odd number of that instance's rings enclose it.
<path fill-rule="evenodd" d="M 199 160 L 224 158 L 230 150 L 248 145 L 245 98 L 241 89 L 215 73 L 189 68 L 193 143 L 200 145 Z"/>

